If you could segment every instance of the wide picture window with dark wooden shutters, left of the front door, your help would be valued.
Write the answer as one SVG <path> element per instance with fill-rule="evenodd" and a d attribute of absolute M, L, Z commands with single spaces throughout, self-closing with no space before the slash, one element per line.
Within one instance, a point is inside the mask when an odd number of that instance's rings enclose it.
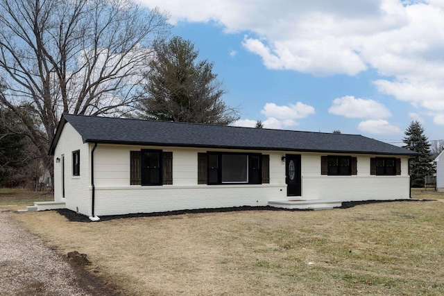
<path fill-rule="evenodd" d="M 198 153 L 198 184 L 262 184 L 269 174 L 268 155 Z"/>

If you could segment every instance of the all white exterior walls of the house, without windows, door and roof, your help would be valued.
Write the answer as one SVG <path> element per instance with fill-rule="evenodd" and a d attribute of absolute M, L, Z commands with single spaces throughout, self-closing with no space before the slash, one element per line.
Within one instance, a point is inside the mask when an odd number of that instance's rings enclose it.
<path fill-rule="evenodd" d="M 67 123 L 54 158 L 65 155 L 65 202 L 67 208 L 92 214 L 89 164 L 93 144 L 84 144 Z M 173 152 L 173 185 L 131 186 L 130 150 L 142 148 Z M 80 177 L 72 176 L 72 151 L 80 149 Z M 208 149 L 210 150 L 210 149 Z M 207 149 L 162 148 L 99 144 L 94 152 L 95 213 L 97 216 L 202 209 L 214 207 L 266 206 L 270 200 L 287 200 L 284 152 L 253 151 L 270 155 L 270 184 L 198 185 L 197 155 Z M 221 150 L 218 150 L 221 151 Z M 245 152 L 244 150 L 225 150 Z M 297 154 L 297 153 L 295 153 Z M 370 157 L 357 157 L 358 175 L 321 175 L 321 155 L 301 153 L 303 199 L 389 200 L 409 198 L 408 158 L 402 157 L 402 175 L 370 175 Z M 55 200 L 61 198 L 61 164 L 55 167 Z"/>

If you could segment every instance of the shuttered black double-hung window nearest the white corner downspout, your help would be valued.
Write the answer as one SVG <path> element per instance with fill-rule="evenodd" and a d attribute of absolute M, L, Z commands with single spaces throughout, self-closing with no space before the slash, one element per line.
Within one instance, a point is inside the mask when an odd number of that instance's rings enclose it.
<path fill-rule="evenodd" d="M 162 150 L 130 151 L 130 184 L 173 184 L 173 153 Z"/>

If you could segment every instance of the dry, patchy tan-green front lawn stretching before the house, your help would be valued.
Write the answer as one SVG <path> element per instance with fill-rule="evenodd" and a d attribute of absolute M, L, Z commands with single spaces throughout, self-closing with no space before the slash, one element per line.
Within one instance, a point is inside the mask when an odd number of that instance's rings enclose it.
<path fill-rule="evenodd" d="M 429 201 L 100 223 L 55 211 L 15 218 L 62 254 L 88 254 L 89 271 L 124 295 L 443 295 L 443 215 L 444 202 Z"/>

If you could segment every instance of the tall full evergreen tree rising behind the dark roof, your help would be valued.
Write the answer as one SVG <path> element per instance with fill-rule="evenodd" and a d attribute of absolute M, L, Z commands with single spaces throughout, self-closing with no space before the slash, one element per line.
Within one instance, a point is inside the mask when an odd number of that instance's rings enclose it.
<path fill-rule="evenodd" d="M 237 119 L 237 111 L 225 105 L 225 94 L 213 64 L 196 61 L 194 44 L 181 37 L 156 42 L 156 58 L 146 74 L 139 116 L 162 121 L 228 125 Z"/>

